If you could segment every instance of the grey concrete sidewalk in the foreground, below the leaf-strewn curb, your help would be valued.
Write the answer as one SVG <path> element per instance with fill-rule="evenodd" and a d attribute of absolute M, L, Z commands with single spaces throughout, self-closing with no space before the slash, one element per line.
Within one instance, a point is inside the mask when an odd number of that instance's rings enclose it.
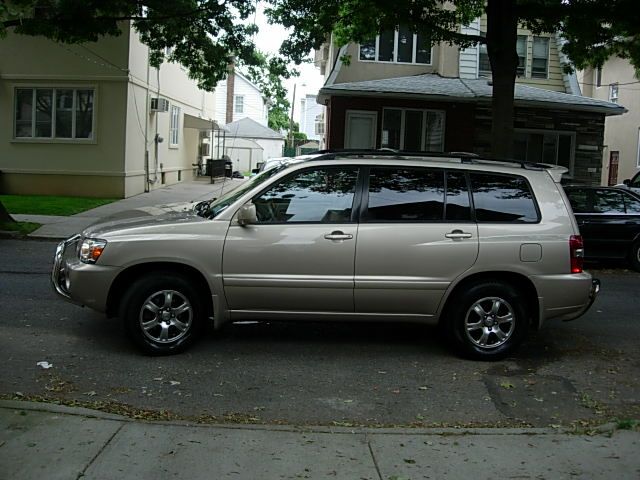
<path fill-rule="evenodd" d="M 637 479 L 640 432 L 147 423 L 0 401 L 2 479 Z"/>

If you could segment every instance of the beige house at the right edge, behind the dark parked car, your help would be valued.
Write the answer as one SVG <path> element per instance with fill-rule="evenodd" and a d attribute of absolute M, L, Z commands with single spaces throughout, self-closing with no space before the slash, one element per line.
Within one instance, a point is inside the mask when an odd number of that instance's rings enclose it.
<path fill-rule="evenodd" d="M 600 69 L 578 72 L 583 95 L 615 102 L 628 110 L 607 118 L 602 152 L 602 184 L 615 185 L 640 171 L 640 75 L 629 63 L 610 58 Z"/>

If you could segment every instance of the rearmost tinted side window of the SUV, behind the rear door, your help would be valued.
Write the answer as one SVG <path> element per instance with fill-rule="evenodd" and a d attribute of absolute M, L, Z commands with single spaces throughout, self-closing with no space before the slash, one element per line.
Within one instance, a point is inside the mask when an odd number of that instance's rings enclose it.
<path fill-rule="evenodd" d="M 471 173 L 476 219 L 479 222 L 538 221 L 529 185 L 523 177 Z"/>

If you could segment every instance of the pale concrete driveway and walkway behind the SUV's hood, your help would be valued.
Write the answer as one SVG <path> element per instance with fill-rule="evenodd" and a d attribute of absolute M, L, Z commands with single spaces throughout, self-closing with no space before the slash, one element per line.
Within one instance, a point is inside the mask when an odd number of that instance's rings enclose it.
<path fill-rule="evenodd" d="M 216 183 L 209 183 L 209 181 L 182 182 L 118 200 L 69 217 L 53 215 L 12 215 L 12 217 L 19 222 L 42 224 L 42 227 L 32 232 L 29 237 L 63 239 L 107 216 L 154 205 L 209 200 L 219 197 L 223 187 L 224 192 L 227 192 L 242 182 L 243 180 L 235 178 L 227 178 L 224 182 L 219 179 Z"/>

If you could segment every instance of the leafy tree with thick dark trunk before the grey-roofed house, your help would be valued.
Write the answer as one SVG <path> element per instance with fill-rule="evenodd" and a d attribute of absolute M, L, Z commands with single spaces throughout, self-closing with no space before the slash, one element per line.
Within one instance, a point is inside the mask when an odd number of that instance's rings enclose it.
<path fill-rule="evenodd" d="M 514 88 L 518 56 L 517 28 L 534 33 L 560 32 L 563 49 L 577 66 L 601 64 L 611 54 L 640 65 L 637 0 L 270 0 L 274 22 L 292 28 L 281 52 L 301 60 L 333 33 L 339 45 L 363 42 L 385 30 L 407 26 L 432 42 L 466 48 L 487 45 L 491 63 L 492 151 L 504 158 L 513 148 Z M 487 16 L 486 36 L 466 35 L 461 25 Z"/>

